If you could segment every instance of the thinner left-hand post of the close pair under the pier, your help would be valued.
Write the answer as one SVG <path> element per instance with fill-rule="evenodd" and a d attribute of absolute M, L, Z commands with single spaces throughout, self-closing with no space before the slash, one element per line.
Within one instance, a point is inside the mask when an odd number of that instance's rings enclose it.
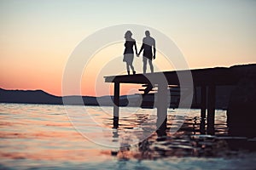
<path fill-rule="evenodd" d="M 206 85 L 201 86 L 201 123 L 200 133 L 206 133 L 206 113 L 207 113 L 207 87 Z"/>

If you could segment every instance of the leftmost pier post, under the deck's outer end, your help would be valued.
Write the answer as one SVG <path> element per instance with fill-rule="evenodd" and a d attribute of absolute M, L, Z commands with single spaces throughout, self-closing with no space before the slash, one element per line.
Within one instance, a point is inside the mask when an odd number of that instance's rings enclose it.
<path fill-rule="evenodd" d="M 113 128 L 119 127 L 119 82 L 114 82 L 113 88 Z"/>

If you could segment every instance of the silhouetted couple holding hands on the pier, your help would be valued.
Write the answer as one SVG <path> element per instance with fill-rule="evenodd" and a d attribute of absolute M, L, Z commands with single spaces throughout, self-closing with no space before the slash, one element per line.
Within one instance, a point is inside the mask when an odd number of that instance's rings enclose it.
<path fill-rule="evenodd" d="M 135 39 L 132 37 L 131 31 L 125 32 L 125 52 L 124 52 L 124 59 L 123 61 L 126 62 L 126 69 L 128 75 L 130 75 L 130 67 L 133 74 L 136 74 L 136 71 L 134 69 L 134 66 L 132 65 L 133 59 L 134 59 L 134 51 L 133 48 L 135 48 L 135 52 L 137 54 L 137 57 L 143 52 L 143 74 L 147 71 L 147 63 L 150 66 L 150 71 L 154 72 L 154 66 L 152 64 L 152 59 L 155 59 L 155 41 L 153 37 L 150 37 L 150 32 L 145 31 L 145 36 L 143 37 L 143 45 L 137 53 L 137 45 Z M 153 48 L 153 52 L 152 52 Z"/>

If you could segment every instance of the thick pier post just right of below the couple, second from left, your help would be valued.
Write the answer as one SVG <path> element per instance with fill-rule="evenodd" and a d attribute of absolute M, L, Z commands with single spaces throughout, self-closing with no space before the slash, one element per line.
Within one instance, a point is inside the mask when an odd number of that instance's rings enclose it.
<path fill-rule="evenodd" d="M 167 117 L 167 94 L 168 86 L 166 83 L 158 84 L 158 101 L 157 101 L 157 122 L 156 127 L 158 130 L 166 129 L 166 117 Z"/>

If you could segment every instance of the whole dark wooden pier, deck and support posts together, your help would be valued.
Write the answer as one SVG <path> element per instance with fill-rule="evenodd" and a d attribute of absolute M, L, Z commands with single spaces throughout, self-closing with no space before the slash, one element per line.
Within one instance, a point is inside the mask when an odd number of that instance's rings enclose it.
<path fill-rule="evenodd" d="M 181 84 L 179 78 L 186 74 L 192 77 L 192 83 L 191 81 L 183 81 L 183 84 Z M 236 85 L 240 79 L 241 74 L 236 74 L 234 69 L 226 67 L 105 77 L 105 82 L 114 83 L 113 127 L 119 126 L 119 89 L 121 83 L 148 84 L 148 86 L 158 87 L 157 128 L 162 126 L 162 122 L 166 122 L 168 87 L 186 86 L 192 88 L 191 95 L 193 95 L 195 88 L 201 89 L 201 133 L 205 133 L 205 120 L 207 119 L 207 134 L 214 134 L 216 87 Z"/>

